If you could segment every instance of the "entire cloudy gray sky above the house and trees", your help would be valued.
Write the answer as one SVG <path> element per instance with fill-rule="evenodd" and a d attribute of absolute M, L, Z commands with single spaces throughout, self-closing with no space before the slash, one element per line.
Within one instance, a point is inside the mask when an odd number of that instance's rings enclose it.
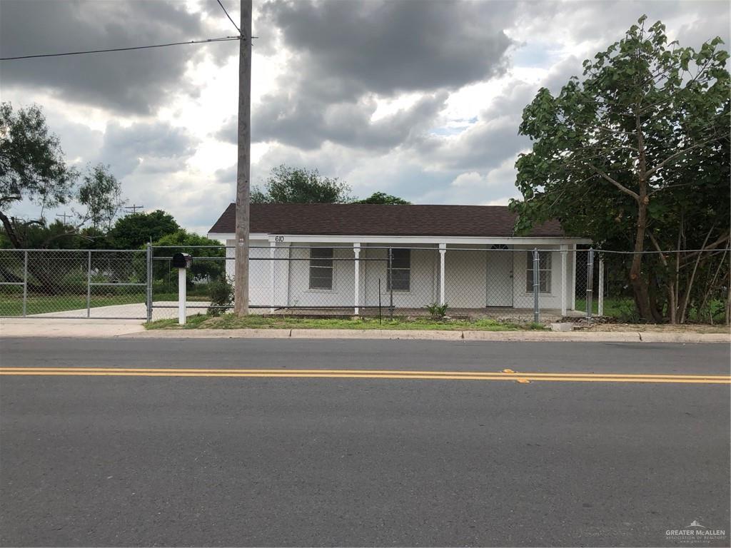
<path fill-rule="evenodd" d="M 523 107 L 643 13 L 681 45 L 729 43 L 724 0 L 254 0 L 252 183 L 284 163 L 358 197 L 507 204 Z M 0 0 L 2 57 L 235 32 L 216 0 Z M 69 162 L 201 233 L 235 194 L 237 83 L 237 42 L 0 63 L 1 100 L 41 105 Z"/>

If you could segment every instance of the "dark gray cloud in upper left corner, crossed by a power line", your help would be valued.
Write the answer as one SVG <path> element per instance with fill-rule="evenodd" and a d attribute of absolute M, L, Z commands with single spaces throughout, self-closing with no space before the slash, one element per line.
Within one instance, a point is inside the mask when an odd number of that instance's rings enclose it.
<path fill-rule="evenodd" d="M 198 14 L 178 1 L 3 0 L 3 56 L 151 45 L 208 37 Z M 220 33 L 220 31 L 218 31 Z M 232 33 L 234 34 L 234 33 Z M 40 88 L 69 102 L 122 114 L 150 114 L 179 91 L 195 95 L 183 74 L 191 58 L 222 61 L 234 42 L 154 50 L 4 61 L 4 87 Z"/>

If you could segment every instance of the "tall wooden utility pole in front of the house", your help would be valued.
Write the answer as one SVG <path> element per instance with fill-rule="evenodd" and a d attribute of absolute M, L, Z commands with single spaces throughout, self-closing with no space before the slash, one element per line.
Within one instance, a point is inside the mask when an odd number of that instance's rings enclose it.
<path fill-rule="evenodd" d="M 251 175 L 251 0 L 241 0 L 238 50 L 238 170 L 234 313 L 249 314 L 249 178 Z"/>

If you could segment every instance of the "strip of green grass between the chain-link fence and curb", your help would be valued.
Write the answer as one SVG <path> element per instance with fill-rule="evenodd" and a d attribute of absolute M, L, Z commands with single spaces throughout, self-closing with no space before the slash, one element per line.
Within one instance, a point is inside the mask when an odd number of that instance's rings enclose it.
<path fill-rule="evenodd" d="M 145 324 L 148 330 L 159 329 L 330 329 L 330 330 L 442 330 L 442 331 L 522 331 L 545 330 L 542 324 L 514 324 L 493 319 L 433 320 L 429 318 L 384 319 L 376 318 L 301 318 L 293 316 L 246 316 L 233 314 L 213 317 L 197 314 L 189 316 L 185 326 L 176 319 L 162 319 Z"/>

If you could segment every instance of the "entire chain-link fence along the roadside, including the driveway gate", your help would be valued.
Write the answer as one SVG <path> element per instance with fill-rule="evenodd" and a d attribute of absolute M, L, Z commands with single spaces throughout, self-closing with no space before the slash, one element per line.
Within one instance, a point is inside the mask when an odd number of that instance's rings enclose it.
<path fill-rule="evenodd" d="M 235 249 L 0 250 L 0 316 L 162 319 L 178 316 L 175 253 L 188 313 L 233 308 Z M 252 246 L 252 313 L 420 316 L 511 321 L 728 321 L 727 249 L 645 252 L 645 317 L 629 278 L 634 254 L 529 246 Z M 446 308 L 444 308 L 446 306 Z M 654 314 L 654 316 L 650 316 Z"/>

